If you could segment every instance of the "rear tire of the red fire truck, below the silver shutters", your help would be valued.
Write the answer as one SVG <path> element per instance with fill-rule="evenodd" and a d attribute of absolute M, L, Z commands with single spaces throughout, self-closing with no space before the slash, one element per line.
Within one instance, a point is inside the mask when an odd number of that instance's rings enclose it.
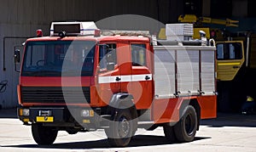
<path fill-rule="evenodd" d="M 180 142 L 190 142 L 195 138 L 197 130 L 197 115 L 195 108 L 189 105 L 184 110 L 184 115 L 174 126 L 176 138 Z"/>

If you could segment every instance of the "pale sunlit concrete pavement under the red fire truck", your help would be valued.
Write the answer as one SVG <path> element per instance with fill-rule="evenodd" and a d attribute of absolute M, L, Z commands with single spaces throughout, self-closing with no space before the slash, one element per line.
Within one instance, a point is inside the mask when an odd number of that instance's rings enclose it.
<path fill-rule="evenodd" d="M 201 121 L 195 141 L 169 143 L 162 127 L 152 132 L 139 129 L 126 148 L 111 148 L 103 130 L 69 135 L 59 132 L 55 144 L 39 147 L 31 127 L 22 125 L 16 110 L 0 110 L 0 151 L 256 151 L 256 115 L 218 114 Z"/>

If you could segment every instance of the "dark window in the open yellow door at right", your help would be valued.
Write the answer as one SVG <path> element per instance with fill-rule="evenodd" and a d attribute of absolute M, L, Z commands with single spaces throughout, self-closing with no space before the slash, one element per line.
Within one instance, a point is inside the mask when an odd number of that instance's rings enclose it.
<path fill-rule="evenodd" d="M 241 59 L 242 48 L 240 42 L 217 44 L 217 59 Z"/>

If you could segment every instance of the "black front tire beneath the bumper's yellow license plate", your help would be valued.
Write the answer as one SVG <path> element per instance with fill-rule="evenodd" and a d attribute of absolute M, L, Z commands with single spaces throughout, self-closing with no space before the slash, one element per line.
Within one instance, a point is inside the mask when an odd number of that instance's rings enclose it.
<path fill-rule="evenodd" d="M 50 145 L 55 142 L 58 131 L 53 127 L 44 127 L 42 124 L 32 124 L 32 137 L 39 145 Z"/>

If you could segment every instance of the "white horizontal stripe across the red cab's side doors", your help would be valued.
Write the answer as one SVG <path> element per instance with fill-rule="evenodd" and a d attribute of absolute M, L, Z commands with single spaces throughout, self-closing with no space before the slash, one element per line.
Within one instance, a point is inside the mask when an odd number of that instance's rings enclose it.
<path fill-rule="evenodd" d="M 147 76 L 148 76 L 148 80 L 146 80 Z M 117 77 L 119 77 L 121 80 L 116 81 Z M 152 81 L 152 74 L 125 75 L 125 76 L 99 76 L 99 83 L 143 82 L 143 81 Z"/>

